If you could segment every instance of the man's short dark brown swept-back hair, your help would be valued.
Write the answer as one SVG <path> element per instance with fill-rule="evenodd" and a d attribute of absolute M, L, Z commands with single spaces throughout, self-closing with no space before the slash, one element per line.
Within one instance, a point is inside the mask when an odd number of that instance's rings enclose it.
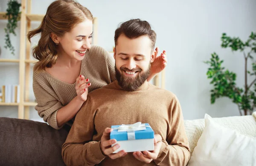
<path fill-rule="evenodd" d="M 151 39 L 151 48 L 154 50 L 157 34 L 151 29 L 151 26 L 147 21 L 132 19 L 122 23 L 115 31 L 115 46 L 117 45 L 117 39 L 121 34 L 124 34 L 130 39 L 146 35 Z"/>

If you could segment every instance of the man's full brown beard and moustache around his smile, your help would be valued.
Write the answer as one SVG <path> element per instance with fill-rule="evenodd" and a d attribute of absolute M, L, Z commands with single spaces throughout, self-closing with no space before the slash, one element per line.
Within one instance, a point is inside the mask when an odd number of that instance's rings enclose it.
<path fill-rule="evenodd" d="M 141 72 L 141 69 L 132 69 L 129 70 L 125 67 L 121 67 L 120 70 L 122 72 L 128 71 L 128 72 L 139 72 L 136 77 L 126 77 L 124 74 L 121 74 L 119 70 L 116 69 L 116 80 L 118 81 L 119 86 L 122 87 L 122 89 L 126 91 L 136 91 L 140 86 L 145 82 L 145 80 L 148 79 L 148 76 L 150 74 L 150 68 L 151 65 L 149 63 L 148 69 L 145 72 Z M 124 71 L 125 70 L 125 71 Z"/>

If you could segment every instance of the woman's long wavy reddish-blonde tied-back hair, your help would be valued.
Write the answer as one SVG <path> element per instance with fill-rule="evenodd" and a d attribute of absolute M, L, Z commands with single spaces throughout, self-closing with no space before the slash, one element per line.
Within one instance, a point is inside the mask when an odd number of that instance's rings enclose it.
<path fill-rule="evenodd" d="M 86 7 L 74 0 L 56 0 L 49 5 L 41 25 L 29 31 L 27 35 L 31 42 L 33 36 L 41 33 L 38 45 L 33 49 L 33 57 L 39 60 L 35 65 L 35 70 L 44 70 L 56 63 L 57 45 L 52 41 L 51 33 L 63 37 L 66 32 L 85 19 L 93 21 L 93 15 Z"/>

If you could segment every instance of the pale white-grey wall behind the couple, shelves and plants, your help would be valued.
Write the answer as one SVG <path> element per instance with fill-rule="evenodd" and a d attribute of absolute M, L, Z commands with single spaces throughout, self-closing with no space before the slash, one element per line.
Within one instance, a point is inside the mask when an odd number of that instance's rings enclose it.
<path fill-rule="evenodd" d="M 45 14 L 53 0 L 32 0 L 32 13 Z M 78 0 L 98 17 L 99 46 L 108 51 L 114 45 L 114 31 L 120 22 L 140 18 L 151 23 L 157 32 L 160 50 L 167 51 L 166 89 L 174 92 L 180 100 L 185 119 L 239 115 L 237 106 L 228 98 L 221 98 L 210 104 L 210 89 L 206 72 L 210 54 L 216 52 L 224 59 L 224 66 L 237 73 L 237 84 L 244 85 L 244 59 L 241 53 L 232 53 L 221 48 L 221 34 L 247 40 L 256 30 L 255 0 Z M 1 0 L 0 11 L 5 11 L 7 0 Z M 11 55 L 4 46 L 6 21 L 0 21 L 0 58 L 18 58 Z M 39 23 L 33 23 L 33 27 Z M 19 27 L 18 27 L 19 28 Z M 19 34 L 19 32 L 18 32 Z M 12 37 L 15 49 L 19 49 L 19 37 Z M 229 64 L 228 64 L 229 63 Z M 3 72 L 8 69 L 8 72 Z M 18 66 L 0 63 L 0 86 L 18 83 Z M 30 83 L 30 86 L 32 82 Z M 33 92 L 30 93 L 33 99 Z M 0 106 L 0 116 L 17 117 L 17 107 Z M 38 118 L 31 108 L 32 119 Z"/>

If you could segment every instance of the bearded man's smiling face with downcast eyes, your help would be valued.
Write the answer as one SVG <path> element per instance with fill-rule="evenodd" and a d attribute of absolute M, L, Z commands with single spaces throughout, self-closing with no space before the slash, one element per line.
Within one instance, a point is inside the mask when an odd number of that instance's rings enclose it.
<path fill-rule="evenodd" d="M 150 74 L 152 59 L 151 40 L 148 36 L 130 39 L 121 34 L 114 49 L 116 79 L 127 91 L 136 91 Z M 153 61 L 152 61 L 153 60 Z"/>

